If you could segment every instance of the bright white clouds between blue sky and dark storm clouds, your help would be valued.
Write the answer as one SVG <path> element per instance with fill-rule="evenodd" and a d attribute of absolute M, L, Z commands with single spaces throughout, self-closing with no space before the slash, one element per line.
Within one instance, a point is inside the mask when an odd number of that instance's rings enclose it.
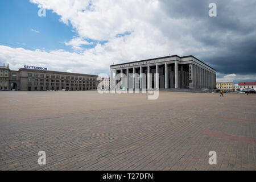
<path fill-rule="evenodd" d="M 118 64 L 169 54 L 185 56 L 185 53 L 191 53 L 201 59 L 201 55 L 214 56 L 224 53 L 220 52 L 224 49 L 220 50 L 211 44 L 205 45 L 191 34 L 193 30 L 197 32 L 198 27 L 200 30 L 206 27 L 205 22 L 202 21 L 204 17 L 177 19 L 168 15 L 161 1 L 30 0 L 30 2 L 38 6 L 43 5 L 60 15 L 61 22 L 71 24 L 77 36 L 64 44 L 72 46 L 76 52 L 63 50 L 46 52 L 39 49 L 30 51 L 0 46 L 1 61 L 10 63 L 10 67 L 16 69 L 25 63 L 30 63 L 43 64 L 59 71 L 109 74 L 109 67 L 113 62 Z M 208 6 L 205 10 L 208 10 Z M 208 14 L 205 14 L 205 18 L 209 18 Z M 129 34 L 117 36 L 126 32 Z M 210 35 L 208 31 L 204 32 L 203 37 L 208 38 L 211 35 L 226 41 L 226 34 L 223 34 L 223 38 L 222 32 L 213 31 Z M 106 43 L 84 49 L 83 45 L 92 44 L 87 40 L 106 41 Z"/>

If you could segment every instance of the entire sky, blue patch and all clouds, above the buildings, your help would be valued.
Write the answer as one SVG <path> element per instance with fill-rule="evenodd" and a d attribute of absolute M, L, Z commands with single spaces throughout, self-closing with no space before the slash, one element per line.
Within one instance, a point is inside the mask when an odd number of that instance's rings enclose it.
<path fill-rule="evenodd" d="M 217 81 L 256 81 L 255 7 L 254 0 L 1 0 L 0 65 L 109 75 L 112 64 L 193 55 L 216 69 Z"/>

